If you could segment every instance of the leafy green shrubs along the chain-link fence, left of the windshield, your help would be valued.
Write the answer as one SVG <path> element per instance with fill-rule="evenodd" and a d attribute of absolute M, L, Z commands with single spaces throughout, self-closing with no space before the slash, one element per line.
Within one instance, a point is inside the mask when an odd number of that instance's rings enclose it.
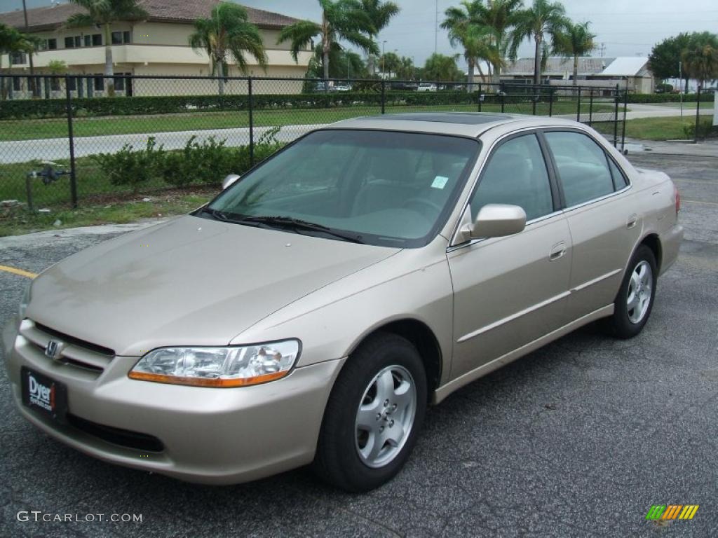
<path fill-rule="evenodd" d="M 282 143 L 276 141 L 279 128 L 266 131 L 254 145 L 254 161 L 259 162 L 277 151 Z M 210 136 L 202 143 L 192 136 L 185 148 L 166 151 L 149 138 L 144 148 L 125 144 L 113 154 L 91 156 L 110 183 L 131 187 L 137 192 L 142 184 L 162 179 L 173 187 L 190 184 L 218 184 L 227 174 L 243 174 L 251 168 L 249 146 L 229 148 L 225 140 Z"/>

